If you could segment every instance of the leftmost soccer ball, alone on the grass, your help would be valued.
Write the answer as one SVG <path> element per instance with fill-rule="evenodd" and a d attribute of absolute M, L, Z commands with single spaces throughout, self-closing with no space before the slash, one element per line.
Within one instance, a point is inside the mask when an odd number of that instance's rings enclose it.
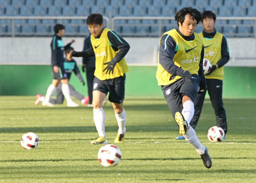
<path fill-rule="evenodd" d="M 24 149 L 36 149 L 39 145 L 39 138 L 36 134 L 29 132 L 22 136 L 20 144 Z"/>

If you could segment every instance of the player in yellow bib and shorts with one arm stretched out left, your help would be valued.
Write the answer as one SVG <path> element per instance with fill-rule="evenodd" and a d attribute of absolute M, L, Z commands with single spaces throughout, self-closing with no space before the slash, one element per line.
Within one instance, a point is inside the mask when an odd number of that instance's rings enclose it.
<path fill-rule="evenodd" d="M 129 71 L 124 56 L 130 45 L 114 31 L 104 28 L 101 14 L 91 14 L 87 18 L 91 33 L 92 47 L 80 52 L 74 51 L 71 57 L 96 57 L 93 81 L 93 119 L 99 137 L 92 144 L 106 144 L 105 113 L 102 102 L 108 92 L 109 101 L 115 111 L 118 134 L 114 143 L 121 143 L 126 132 L 126 113 L 123 108 L 125 72 Z"/>

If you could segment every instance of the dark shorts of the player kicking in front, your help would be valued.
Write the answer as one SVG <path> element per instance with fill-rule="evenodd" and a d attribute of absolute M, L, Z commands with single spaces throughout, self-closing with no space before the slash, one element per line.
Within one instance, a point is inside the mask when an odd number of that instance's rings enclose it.
<path fill-rule="evenodd" d="M 193 102 L 195 102 L 200 81 L 201 79 L 198 75 L 193 75 L 190 80 L 183 81 L 183 79 L 181 79 L 176 83 L 162 86 L 164 98 L 166 99 L 173 116 L 175 116 L 176 112 L 182 112 L 182 97 L 184 95 L 188 96 Z"/>

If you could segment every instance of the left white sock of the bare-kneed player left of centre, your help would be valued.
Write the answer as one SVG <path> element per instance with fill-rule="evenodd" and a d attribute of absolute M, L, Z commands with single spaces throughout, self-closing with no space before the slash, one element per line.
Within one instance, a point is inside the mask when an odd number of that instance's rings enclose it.
<path fill-rule="evenodd" d="M 103 108 L 93 109 L 93 120 L 98 131 L 99 137 L 106 137 L 105 119 L 106 117 Z"/>

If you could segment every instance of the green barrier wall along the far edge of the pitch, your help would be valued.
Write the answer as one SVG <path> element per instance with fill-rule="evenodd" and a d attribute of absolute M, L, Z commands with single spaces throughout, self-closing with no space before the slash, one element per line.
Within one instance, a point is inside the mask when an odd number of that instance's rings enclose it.
<path fill-rule="evenodd" d="M 130 66 L 126 97 L 163 97 L 156 81 L 156 66 Z M 85 74 L 82 73 L 85 79 Z M 225 67 L 224 98 L 256 98 L 256 67 Z M 45 95 L 52 82 L 49 65 L 0 65 L 0 95 Z M 75 74 L 70 83 L 88 96 Z"/>

